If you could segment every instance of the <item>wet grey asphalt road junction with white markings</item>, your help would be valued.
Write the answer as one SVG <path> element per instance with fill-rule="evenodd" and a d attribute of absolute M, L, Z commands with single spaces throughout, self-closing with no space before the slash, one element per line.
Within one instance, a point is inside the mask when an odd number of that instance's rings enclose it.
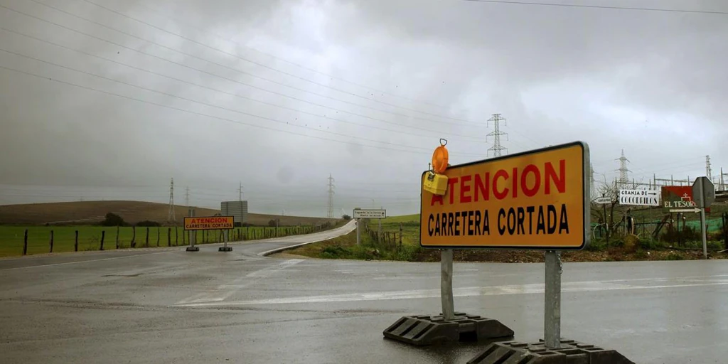
<path fill-rule="evenodd" d="M 341 232 L 350 231 L 347 226 Z M 383 339 L 440 312 L 439 263 L 264 258 L 314 237 L 0 260 L 0 363 L 465 363 Z M 455 264 L 457 311 L 543 330 L 543 264 Z M 562 333 L 636 363 L 726 363 L 728 262 L 563 265 Z"/>

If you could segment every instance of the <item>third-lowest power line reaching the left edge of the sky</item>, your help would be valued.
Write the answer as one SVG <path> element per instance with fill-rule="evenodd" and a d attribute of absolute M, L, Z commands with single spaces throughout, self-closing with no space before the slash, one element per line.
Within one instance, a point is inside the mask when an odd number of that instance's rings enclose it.
<path fill-rule="evenodd" d="M 15 34 L 17 34 L 19 36 L 24 36 L 24 37 L 27 37 L 27 38 L 30 38 L 30 39 L 34 39 L 36 41 L 42 41 L 42 42 L 47 43 L 47 44 L 52 44 L 55 47 L 60 47 L 60 48 L 63 48 L 65 50 L 70 50 L 72 52 L 78 52 L 78 53 L 81 53 L 82 55 L 87 55 L 87 56 L 90 56 L 90 57 L 93 57 L 93 58 L 98 58 L 100 60 L 106 60 L 108 62 L 117 64 L 119 66 L 124 66 L 124 67 L 132 68 L 132 69 L 135 69 L 135 70 L 138 70 L 138 71 L 143 71 L 143 72 L 146 72 L 147 74 L 153 74 L 155 76 L 165 77 L 166 79 L 172 79 L 172 80 L 177 81 L 177 82 L 183 82 L 185 84 L 191 84 L 191 85 L 193 85 L 195 87 L 200 87 L 200 88 L 204 88 L 204 89 L 207 89 L 207 90 L 212 90 L 212 91 L 215 91 L 215 92 L 221 92 L 223 94 L 231 95 L 231 96 L 234 96 L 236 98 L 241 98 L 241 99 L 245 99 L 245 100 L 251 100 L 251 101 L 256 102 L 256 103 L 261 103 L 261 104 L 268 105 L 268 106 L 274 106 L 274 107 L 282 108 L 282 109 L 289 110 L 289 111 L 295 111 L 295 112 L 300 113 L 300 114 L 307 114 L 307 115 L 311 115 L 311 116 L 314 116 L 314 117 L 317 117 L 317 118 L 329 119 L 329 120 L 333 120 L 333 121 L 336 121 L 336 122 L 343 122 L 343 123 L 346 123 L 346 124 L 353 124 L 353 125 L 357 125 L 357 126 L 360 126 L 360 127 L 367 127 L 367 128 L 376 129 L 376 130 L 383 130 L 383 131 L 387 131 L 387 132 L 397 132 L 397 133 L 405 134 L 405 135 L 414 135 L 414 136 L 419 136 L 419 137 L 422 137 L 422 138 L 432 138 L 432 136 L 430 136 L 430 135 L 413 134 L 412 132 L 406 132 L 406 131 L 402 131 L 402 130 L 393 130 L 393 129 L 387 129 L 386 127 L 377 127 L 377 126 L 369 125 L 369 124 L 362 124 L 362 123 L 358 123 L 358 122 L 351 122 L 349 120 L 337 119 L 337 118 L 333 118 L 331 116 L 314 114 L 314 113 L 311 113 L 311 112 L 308 112 L 308 111 L 300 110 L 298 108 L 290 108 L 288 106 L 281 106 L 281 105 L 278 105 L 276 103 L 269 103 L 269 102 L 266 102 L 266 101 L 257 100 L 255 98 L 250 98 L 250 97 L 245 96 L 245 95 L 239 95 L 239 94 L 234 93 L 234 92 L 227 92 L 227 91 L 223 91 L 223 90 L 218 90 L 218 89 L 215 89 L 213 87 L 207 87 L 207 86 L 205 86 L 203 84 L 197 84 L 195 82 L 189 82 L 189 81 L 187 81 L 185 79 L 178 79 L 178 78 L 173 77 L 173 76 L 167 76 L 167 75 L 164 75 L 164 74 L 159 74 L 159 73 L 154 72 L 154 71 L 149 71 L 148 69 L 145 69 L 145 68 L 141 68 L 141 67 L 137 67 L 137 66 L 131 66 L 131 65 L 127 64 L 127 63 L 122 63 L 122 62 L 119 62 L 117 60 L 112 60 L 111 58 L 102 57 L 100 55 L 94 55 L 92 53 L 84 52 L 82 50 L 76 50 L 74 48 L 66 47 L 63 44 L 58 44 L 58 43 L 55 43 L 53 41 L 49 41 L 47 39 L 41 39 L 41 38 L 38 38 L 36 36 L 31 36 L 31 35 L 22 33 L 20 31 L 15 31 L 15 30 L 12 30 L 12 29 L 4 28 L 1 25 L 0 25 L 0 29 L 3 30 L 3 31 L 7 31 L 9 33 L 15 33 Z M 326 106 L 323 106 L 323 107 L 326 107 Z M 362 117 L 366 117 L 366 116 L 362 116 Z M 396 123 L 396 122 L 389 122 L 389 121 L 386 121 L 386 120 L 382 120 L 382 122 L 386 122 L 388 124 L 399 125 L 401 127 L 413 128 L 413 129 L 417 129 L 417 130 L 427 130 L 427 129 L 423 129 L 423 128 L 412 127 L 411 125 L 407 125 L 407 124 L 400 124 L 400 123 Z M 427 131 L 432 132 L 432 133 L 438 133 L 439 135 L 442 135 L 442 133 L 440 133 L 438 131 L 435 131 L 435 130 L 427 130 Z M 449 134 L 448 133 L 448 135 L 458 135 L 458 134 Z M 474 137 L 469 137 L 467 135 L 462 135 L 462 137 L 463 138 L 472 138 L 472 139 L 475 139 Z"/>

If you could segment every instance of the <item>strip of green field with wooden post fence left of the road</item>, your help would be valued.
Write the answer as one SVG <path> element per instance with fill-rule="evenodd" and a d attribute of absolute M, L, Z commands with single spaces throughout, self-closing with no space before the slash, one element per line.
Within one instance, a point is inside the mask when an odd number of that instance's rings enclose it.
<path fill-rule="evenodd" d="M 312 234 L 333 228 L 313 226 L 245 226 L 229 230 L 231 242 Z M 195 232 L 196 244 L 223 242 L 222 230 Z M 181 227 L 170 226 L 0 226 L 0 256 L 187 245 Z"/>

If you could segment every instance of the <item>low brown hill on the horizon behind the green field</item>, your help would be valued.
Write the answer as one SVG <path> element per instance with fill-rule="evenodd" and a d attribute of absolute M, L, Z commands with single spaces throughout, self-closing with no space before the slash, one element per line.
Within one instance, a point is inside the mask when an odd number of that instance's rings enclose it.
<path fill-rule="evenodd" d="M 136 223 L 138 221 L 158 221 L 165 223 L 169 205 L 155 202 L 139 201 L 82 201 L 82 202 L 52 202 L 26 205 L 0 205 L 0 224 L 41 225 L 45 223 L 56 225 L 89 225 L 102 221 L 106 213 L 116 213 L 124 221 Z M 214 215 L 220 210 L 197 208 L 198 216 Z M 175 217 L 178 223 L 187 214 L 186 206 L 175 206 Z M 336 219 L 309 218 L 298 216 L 263 215 L 250 213 L 248 223 L 254 225 L 267 225 L 273 218 L 280 219 L 281 226 L 312 225 L 336 221 Z"/>

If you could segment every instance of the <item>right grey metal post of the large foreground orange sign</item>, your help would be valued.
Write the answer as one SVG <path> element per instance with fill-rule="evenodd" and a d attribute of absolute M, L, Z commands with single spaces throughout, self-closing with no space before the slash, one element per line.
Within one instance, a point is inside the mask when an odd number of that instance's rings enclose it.
<path fill-rule="evenodd" d="M 547 349 L 561 347 L 561 253 L 547 250 L 544 342 Z"/>

